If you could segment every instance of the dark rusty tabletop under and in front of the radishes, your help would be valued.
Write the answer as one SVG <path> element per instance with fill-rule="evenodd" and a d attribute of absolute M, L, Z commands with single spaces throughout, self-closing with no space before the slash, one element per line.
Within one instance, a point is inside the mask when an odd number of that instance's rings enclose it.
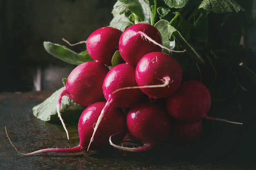
<path fill-rule="evenodd" d="M 9 143 L 4 126 L 20 152 L 42 148 L 66 148 L 79 144 L 77 125 L 68 125 L 70 140 L 60 124 L 34 117 L 32 107 L 52 92 L 0 93 L 0 170 L 255 170 L 254 161 L 240 159 L 203 159 L 192 151 L 177 155 L 177 149 L 159 146 L 148 152 L 128 153 L 118 150 L 77 154 L 43 153 L 22 156 Z M 199 152 L 200 153 L 200 152 Z M 198 153 L 197 153 L 198 154 Z M 245 155 L 241 155 L 241 158 Z M 193 157 L 195 159 L 193 159 Z M 245 159 L 243 159 L 245 160 Z"/>

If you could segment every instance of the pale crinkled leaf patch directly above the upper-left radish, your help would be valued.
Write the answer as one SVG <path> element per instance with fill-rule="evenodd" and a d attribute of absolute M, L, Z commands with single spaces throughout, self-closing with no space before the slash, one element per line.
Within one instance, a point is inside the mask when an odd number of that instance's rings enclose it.
<path fill-rule="evenodd" d="M 127 27 L 131 26 L 132 24 L 134 23 L 129 20 L 125 13 L 123 13 L 115 15 L 109 26 L 119 29 L 123 32 Z"/>

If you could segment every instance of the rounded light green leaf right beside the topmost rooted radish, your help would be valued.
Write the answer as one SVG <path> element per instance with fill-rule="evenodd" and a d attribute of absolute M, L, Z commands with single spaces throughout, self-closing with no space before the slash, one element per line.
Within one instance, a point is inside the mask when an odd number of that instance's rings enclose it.
<path fill-rule="evenodd" d="M 173 44 L 171 44 L 171 41 L 168 38 L 168 24 L 169 22 L 167 20 L 159 20 L 154 26 L 162 35 L 163 46 L 167 47 L 168 49 L 173 49 L 175 47 L 175 42 L 173 46 Z"/>

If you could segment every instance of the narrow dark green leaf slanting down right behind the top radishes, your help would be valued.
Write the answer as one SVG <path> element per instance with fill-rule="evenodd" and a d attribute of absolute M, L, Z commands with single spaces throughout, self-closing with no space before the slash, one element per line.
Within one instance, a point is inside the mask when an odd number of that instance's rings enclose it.
<path fill-rule="evenodd" d="M 186 50 L 186 52 L 197 62 L 204 64 L 204 60 L 202 59 L 200 53 L 198 53 L 191 44 L 189 44 L 180 34 L 177 29 L 175 29 L 173 26 L 168 24 L 168 38 L 171 39 L 171 36 L 173 35 L 175 39 L 179 42 L 179 44 L 182 46 L 183 49 Z"/>

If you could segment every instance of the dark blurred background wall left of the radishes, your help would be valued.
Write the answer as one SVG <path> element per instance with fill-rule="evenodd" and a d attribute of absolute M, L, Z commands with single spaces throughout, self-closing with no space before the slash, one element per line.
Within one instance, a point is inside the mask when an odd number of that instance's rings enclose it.
<path fill-rule="evenodd" d="M 108 26 L 116 0 L 0 0 L 0 92 L 56 90 L 75 67 L 49 55 L 43 42 L 68 46 Z M 70 47 L 85 51 L 85 44 Z M 39 76 L 39 77 L 38 77 Z M 37 78 L 36 78 L 37 77 Z M 39 78 L 40 86 L 34 87 Z"/>

